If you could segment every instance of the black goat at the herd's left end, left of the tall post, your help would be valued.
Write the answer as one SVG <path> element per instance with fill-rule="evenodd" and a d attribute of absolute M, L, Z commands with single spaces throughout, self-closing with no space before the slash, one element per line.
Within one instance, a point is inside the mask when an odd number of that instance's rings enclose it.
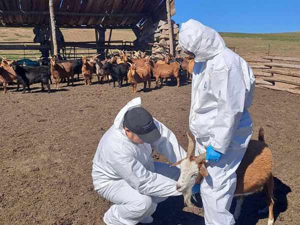
<path fill-rule="evenodd" d="M 30 93 L 29 85 L 31 83 L 41 83 L 41 91 L 44 90 L 44 85 L 47 86 L 48 93 L 50 93 L 50 68 L 45 65 L 30 67 L 23 66 L 17 63 L 16 61 L 10 64 L 13 70 L 15 71 L 16 78 L 19 82 L 22 83 L 23 90 L 22 93 L 25 93 L 25 87 L 27 86 L 28 92 Z"/>

